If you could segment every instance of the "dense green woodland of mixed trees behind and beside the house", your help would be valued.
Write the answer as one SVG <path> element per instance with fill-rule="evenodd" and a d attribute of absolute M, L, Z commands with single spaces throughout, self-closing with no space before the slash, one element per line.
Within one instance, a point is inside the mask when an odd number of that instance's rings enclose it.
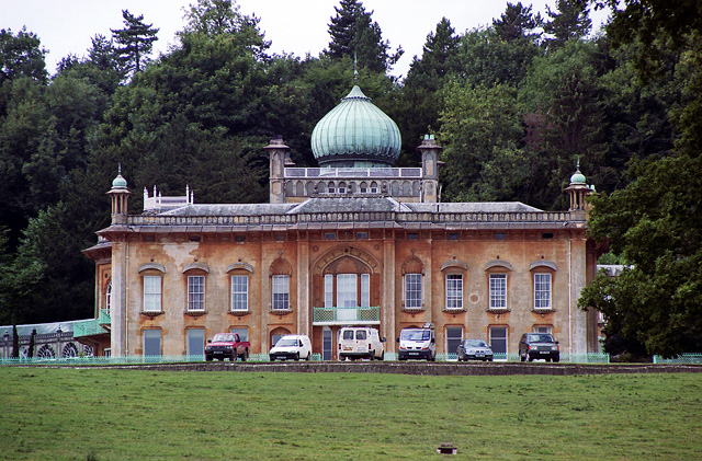
<path fill-rule="evenodd" d="M 609 7 L 589 35 L 590 8 Z M 359 85 L 398 125 L 396 166 L 443 147 L 443 201 L 518 200 L 565 209 L 579 161 L 597 187 L 591 235 L 608 240 L 584 308 L 601 310 L 611 353 L 702 350 L 702 5 L 693 0 L 558 0 L 545 16 L 508 3 L 490 26 L 443 19 L 407 77 L 358 0 L 341 0 L 316 57 L 269 53 L 236 1 L 199 0 L 179 43 L 151 59 L 158 24 L 115 18 L 84 55 L 46 71 L 39 37 L 0 31 L 0 324 L 93 316 L 94 266 L 81 250 L 110 222 L 122 173 L 140 192 L 197 203 L 268 201 L 262 147 L 281 135 L 316 166 L 316 123 Z M 122 21 L 122 26 L 120 26 Z"/>

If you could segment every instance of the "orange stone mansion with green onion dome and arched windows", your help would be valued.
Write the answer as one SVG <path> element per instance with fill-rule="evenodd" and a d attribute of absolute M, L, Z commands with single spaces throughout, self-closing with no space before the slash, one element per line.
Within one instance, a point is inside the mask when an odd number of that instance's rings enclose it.
<path fill-rule="evenodd" d="M 552 333 L 562 354 L 599 351 L 597 312 L 577 308 L 601 251 L 587 237 L 577 171 L 570 209 L 522 203 L 441 203 L 441 147 L 418 147 L 420 168 L 393 168 L 400 135 L 355 85 L 315 127 L 319 168 L 296 168 L 272 139 L 270 203 L 196 204 L 192 192 L 132 192 L 118 174 L 112 223 L 84 250 L 95 262 L 95 320 L 78 339 L 97 355 L 200 356 L 236 332 L 267 354 L 306 334 L 337 359 L 338 332 L 371 325 L 396 351 L 404 327 L 433 323 L 437 351 L 480 338 L 517 354 L 525 332 Z"/>

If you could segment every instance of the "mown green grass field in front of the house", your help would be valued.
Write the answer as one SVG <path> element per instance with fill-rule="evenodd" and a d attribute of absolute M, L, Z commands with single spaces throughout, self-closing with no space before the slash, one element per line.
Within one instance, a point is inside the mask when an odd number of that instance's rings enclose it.
<path fill-rule="evenodd" d="M 702 373 L 0 368 L 0 459 L 699 459 Z"/>

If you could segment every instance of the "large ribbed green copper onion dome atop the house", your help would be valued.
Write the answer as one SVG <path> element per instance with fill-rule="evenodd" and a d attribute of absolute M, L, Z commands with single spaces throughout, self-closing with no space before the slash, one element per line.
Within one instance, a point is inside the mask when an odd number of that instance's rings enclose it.
<path fill-rule="evenodd" d="M 324 116 L 312 132 L 320 166 L 392 166 L 399 155 L 397 125 L 358 85 Z"/>

